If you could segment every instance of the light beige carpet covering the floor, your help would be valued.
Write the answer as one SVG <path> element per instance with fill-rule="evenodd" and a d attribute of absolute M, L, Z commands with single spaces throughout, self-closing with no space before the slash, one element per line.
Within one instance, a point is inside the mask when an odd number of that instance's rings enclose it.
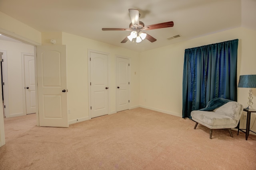
<path fill-rule="evenodd" d="M 69 128 L 36 127 L 36 115 L 5 118 L 0 170 L 255 170 L 256 136 L 209 129 L 136 108 Z"/>

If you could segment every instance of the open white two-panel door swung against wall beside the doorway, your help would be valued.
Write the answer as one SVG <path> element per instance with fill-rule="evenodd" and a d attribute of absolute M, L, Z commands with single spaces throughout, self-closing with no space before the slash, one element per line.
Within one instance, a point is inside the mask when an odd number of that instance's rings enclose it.
<path fill-rule="evenodd" d="M 37 46 L 39 125 L 68 127 L 66 45 Z"/>

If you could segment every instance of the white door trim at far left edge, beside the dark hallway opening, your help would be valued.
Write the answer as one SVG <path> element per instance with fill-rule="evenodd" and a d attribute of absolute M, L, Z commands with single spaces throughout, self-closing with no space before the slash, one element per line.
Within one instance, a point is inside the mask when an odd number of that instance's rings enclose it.
<path fill-rule="evenodd" d="M 9 83 L 8 83 L 8 60 L 7 60 L 7 51 L 2 51 L 0 52 L 3 53 L 2 59 L 4 62 L 2 63 L 2 71 L 3 71 L 3 90 L 4 90 L 4 114 L 8 118 L 10 117 L 10 110 L 9 110 Z M 4 106 L 3 106 L 4 107 Z"/>

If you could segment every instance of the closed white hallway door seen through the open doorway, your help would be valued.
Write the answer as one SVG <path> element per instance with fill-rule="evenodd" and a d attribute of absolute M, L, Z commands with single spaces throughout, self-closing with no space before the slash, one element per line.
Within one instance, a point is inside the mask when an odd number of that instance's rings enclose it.
<path fill-rule="evenodd" d="M 24 55 L 26 114 L 36 113 L 34 56 Z"/>

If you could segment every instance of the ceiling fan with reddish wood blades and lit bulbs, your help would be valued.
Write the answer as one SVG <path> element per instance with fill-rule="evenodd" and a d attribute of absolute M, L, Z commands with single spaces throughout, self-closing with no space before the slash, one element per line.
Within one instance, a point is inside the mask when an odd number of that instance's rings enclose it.
<path fill-rule="evenodd" d="M 151 30 L 151 29 L 159 29 L 159 28 L 166 28 L 166 27 L 173 27 L 173 21 L 164 22 L 164 23 L 156 23 L 152 25 L 145 26 L 142 21 L 140 21 L 140 13 L 139 10 L 136 9 L 129 9 L 130 18 L 132 23 L 130 23 L 129 28 L 102 28 L 102 31 L 132 31 L 130 35 L 125 37 L 121 43 L 126 43 L 128 39 L 132 41 L 136 38 L 136 43 L 140 43 L 145 38 L 148 39 L 150 42 L 155 42 L 156 39 L 149 35 L 148 33 L 142 32 L 142 30 Z"/>

